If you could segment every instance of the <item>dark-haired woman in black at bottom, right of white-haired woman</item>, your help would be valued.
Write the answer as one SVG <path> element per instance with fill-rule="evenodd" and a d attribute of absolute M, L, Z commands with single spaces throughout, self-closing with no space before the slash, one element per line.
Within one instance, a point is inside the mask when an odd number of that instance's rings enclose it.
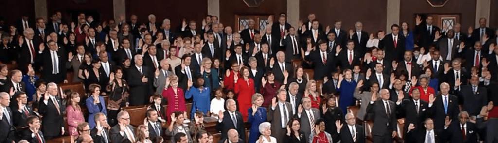
<path fill-rule="evenodd" d="M 306 143 L 304 132 L 301 131 L 299 119 L 293 118 L 287 123 L 287 134 L 283 136 L 283 143 Z"/>

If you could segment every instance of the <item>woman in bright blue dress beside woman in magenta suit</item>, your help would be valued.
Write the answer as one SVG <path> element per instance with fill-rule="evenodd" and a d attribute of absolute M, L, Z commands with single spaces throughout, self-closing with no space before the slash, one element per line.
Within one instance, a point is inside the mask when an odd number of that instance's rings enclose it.
<path fill-rule="evenodd" d="M 196 79 L 195 86 L 192 86 L 192 81 L 187 82 L 187 92 L 185 93 L 185 99 L 193 98 L 192 101 L 192 109 L 190 112 L 190 118 L 193 119 L 195 112 L 197 110 L 204 113 L 204 115 L 210 116 L 209 107 L 210 107 L 210 93 L 211 89 L 207 86 L 204 86 L 204 78 L 199 76 Z"/>

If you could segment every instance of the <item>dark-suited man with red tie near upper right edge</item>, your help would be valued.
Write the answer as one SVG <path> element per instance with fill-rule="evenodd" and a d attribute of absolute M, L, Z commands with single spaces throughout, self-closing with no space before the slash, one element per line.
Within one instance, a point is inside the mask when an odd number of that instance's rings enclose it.
<path fill-rule="evenodd" d="M 488 52 L 483 50 L 483 44 L 480 41 L 474 42 L 474 50 L 465 51 L 465 69 L 470 70 L 472 67 L 483 68 L 483 58 L 487 58 Z"/>

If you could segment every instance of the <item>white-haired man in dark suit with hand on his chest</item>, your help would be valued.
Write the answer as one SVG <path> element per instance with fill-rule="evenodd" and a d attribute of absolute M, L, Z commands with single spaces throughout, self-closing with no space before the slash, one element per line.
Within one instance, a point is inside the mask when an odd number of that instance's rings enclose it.
<path fill-rule="evenodd" d="M 130 88 L 130 105 L 143 105 L 149 99 L 149 93 L 152 92 L 153 72 L 148 67 L 142 66 L 143 60 L 141 55 L 135 55 L 135 65 L 131 66 L 128 71 L 127 81 Z"/>

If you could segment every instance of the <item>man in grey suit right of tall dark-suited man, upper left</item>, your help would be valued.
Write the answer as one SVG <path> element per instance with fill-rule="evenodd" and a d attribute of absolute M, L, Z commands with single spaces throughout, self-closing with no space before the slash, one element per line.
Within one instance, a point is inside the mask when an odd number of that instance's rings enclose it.
<path fill-rule="evenodd" d="M 81 63 L 85 62 L 85 46 L 78 45 L 76 48 L 76 56 L 73 56 L 72 52 L 69 52 L 68 61 L 66 62 L 66 69 L 73 69 L 73 83 L 83 82 L 81 78 L 78 77 L 80 71 Z M 83 74 L 82 74 L 83 75 Z"/>

